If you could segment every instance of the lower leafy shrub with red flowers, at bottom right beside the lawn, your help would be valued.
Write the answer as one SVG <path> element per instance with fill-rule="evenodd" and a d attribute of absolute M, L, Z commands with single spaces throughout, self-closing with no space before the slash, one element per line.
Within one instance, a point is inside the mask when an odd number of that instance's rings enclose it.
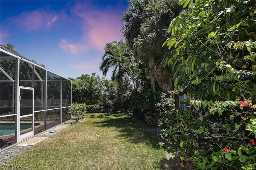
<path fill-rule="evenodd" d="M 191 101 L 196 102 L 196 105 L 206 103 Z M 241 169 L 248 166 L 254 169 L 256 112 L 253 111 L 256 111 L 256 105 L 246 100 L 215 103 L 205 107 L 209 111 L 225 108 L 234 109 L 234 112 L 229 113 L 229 117 L 225 114 L 225 118 L 224 114 L 219 113 L 198 116 L 199 111 L 179 110 L 172 103 L 169 111 L 160 112 L 164 128 L 162 138 L 166 139 L 159 143 L 160 146 L 165 145 L 169 152 L 178 151 L 181 161 L 192 159 L 196 169 Z M 214 120 L 214 117 L 219 121 Z"/>

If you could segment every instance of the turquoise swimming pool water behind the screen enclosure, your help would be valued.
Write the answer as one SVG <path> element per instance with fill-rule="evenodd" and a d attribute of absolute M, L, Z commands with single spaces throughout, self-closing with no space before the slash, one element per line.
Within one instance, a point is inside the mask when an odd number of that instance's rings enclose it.
<path fill-rule="evenodd" d="M 40 125 L 40 123 L 34 123 L 34 127 Z M 27 128 L 31 128 L 31 123 L 22 123 L 20 125 L 20 131 L 25 130 Z M 15 124 L 14 123 L 1 123 L 0 125 L 0 136 L 14 134 L 15 133 Z"/>

